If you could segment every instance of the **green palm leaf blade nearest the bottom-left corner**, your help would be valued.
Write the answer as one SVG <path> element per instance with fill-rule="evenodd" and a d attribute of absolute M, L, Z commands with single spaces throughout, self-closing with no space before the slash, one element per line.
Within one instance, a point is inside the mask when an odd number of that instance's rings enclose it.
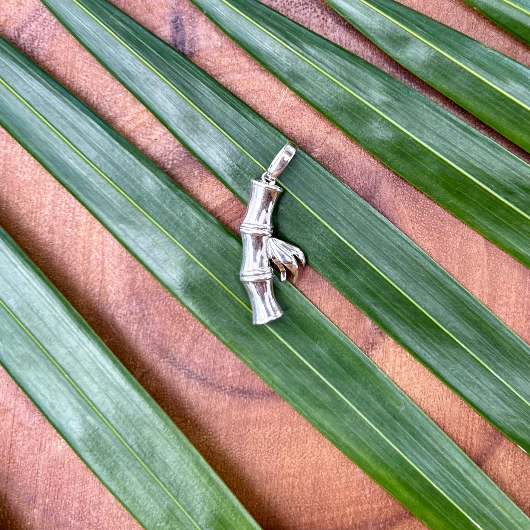
<path fill-rule="evenodd" d="M 259 528 L 1 228 L 0 328 L 7 372 L 145 528 Z"/>

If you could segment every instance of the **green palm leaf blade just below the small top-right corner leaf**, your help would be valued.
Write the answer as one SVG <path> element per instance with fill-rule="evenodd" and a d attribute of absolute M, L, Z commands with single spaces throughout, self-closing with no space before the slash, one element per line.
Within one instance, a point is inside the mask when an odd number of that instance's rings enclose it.
<path fill-rule="evenodd" d="M 530 151 L 530 70 L 394 0 L 328 0 L 379 48 Z"/>

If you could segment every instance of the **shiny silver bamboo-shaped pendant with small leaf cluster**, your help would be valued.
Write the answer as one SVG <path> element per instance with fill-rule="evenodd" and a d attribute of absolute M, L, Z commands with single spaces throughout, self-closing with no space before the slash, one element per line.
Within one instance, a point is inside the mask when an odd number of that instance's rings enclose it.
<path fill-rule="evenodd" d="M 272 210 L 282 192 L 276 179 L 293 159 L 296 149 L 290 142 L 285 144 L 261 175 L 261 180 L 252 181 L 249 205 L 240 225 L 243 262 L 239 277 L 249 293 L 254 324 L 266 324 L 284 314 L 274 296 L 271 264 L 280 272 L 281 281 L 287 278 L 288 270 L 293 283 L 298 275 L 297 260 L 305 265 L 300 249 L 272 237 Z"/>

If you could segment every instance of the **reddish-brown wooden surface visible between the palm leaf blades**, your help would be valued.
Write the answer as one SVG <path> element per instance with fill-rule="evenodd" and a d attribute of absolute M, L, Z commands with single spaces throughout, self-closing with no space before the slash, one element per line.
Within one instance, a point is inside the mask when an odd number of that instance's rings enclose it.
<path fill-rule="evenodd" d="M 529 49 L 463 0 L 401 0 L 530 66 Z M 117 0 L 360 193 L 530 341 L 530 270 L 368 155 L 250 59 L 188 0 Z M 523 154 L 405 72 L 322 0 L 268 0 Z M 242 205 L 38 0 L 0 0 L 0 33 L 232 229 Z M 407 510 L 282 402 L 0 129 L 0 224 L 267 530 L 417 530 Z M 313 270 L 299 288 L 530 515 L 530 457 Z M 0 528 L 139 528 L 0 369 Z M 509 529 L 507 529 L 509 530 Z"/>

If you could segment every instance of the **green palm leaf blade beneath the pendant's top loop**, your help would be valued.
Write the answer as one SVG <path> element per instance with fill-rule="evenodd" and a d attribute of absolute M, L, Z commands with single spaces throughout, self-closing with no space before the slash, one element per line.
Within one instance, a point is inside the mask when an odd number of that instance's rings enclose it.
<path fill-rule="evenodd" d="M 111 4 L 46 4 L 208 169 L 247 199 L 250 176 L 264 170 L 284 135 Z M 275 220 L 282 238 L 299 244 L 350 301 L 530 451 L 528 346 L 306 153 L 298 152 L 280 185 L 287 191 Z"/>

